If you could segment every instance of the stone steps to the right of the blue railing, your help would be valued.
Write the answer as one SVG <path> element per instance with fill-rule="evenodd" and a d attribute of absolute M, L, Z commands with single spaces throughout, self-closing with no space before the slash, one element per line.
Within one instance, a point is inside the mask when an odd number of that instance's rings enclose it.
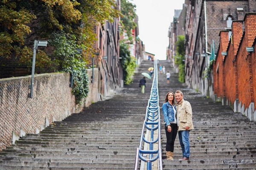
<path fill-rule="evenodd" d="M 174 161 L 166 160 L 166 135 L 162 123 L 162 151 L 164 170 L 256 170 L 256 122 L 250 122 L 241 113 L 234 113 L 229 106 L 213 102 L 177 81 L 175 70 L 169 63 L 160 61 L 171 72 L 167 85 L 161 82 L 158 88 L 162 102 L 168 91 L 180 89 L 185 100 L 192 106 L 194 130 L 190 131 L 190 160 L 179 161 L 182 152 L 178 135 L 175 140 Z M 166 69 L 166 71 L 168 71 Z M 161 100 L 160 100 L 161 101 Z M 162 113 L 162 112 L 161 112 Z M 162 116 L 163 120 L 163 116 Z"/>

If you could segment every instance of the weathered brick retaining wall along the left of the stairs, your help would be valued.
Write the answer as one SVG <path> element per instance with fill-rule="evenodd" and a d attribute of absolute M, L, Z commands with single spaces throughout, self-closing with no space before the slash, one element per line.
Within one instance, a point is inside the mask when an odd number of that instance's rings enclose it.
<path fill-rule="evenodd" d="M 89 77 L 91 72 L 92 69 L 87 71 Z M 94 74 L 85 106 L 97 101 L 98 69 Z M 42 130 L 46 119 L 49 123 L 61 121 L 82 109 L 75 105 L 71 94 L 70 74 L 35 75 L 32 99 L 28 97 L 30 83 L 29 76 L 0 79 L 0 150 L 11 145 L 12 131 L 19 136 L 20 128 L 25 133 L 36 133 Z"/>

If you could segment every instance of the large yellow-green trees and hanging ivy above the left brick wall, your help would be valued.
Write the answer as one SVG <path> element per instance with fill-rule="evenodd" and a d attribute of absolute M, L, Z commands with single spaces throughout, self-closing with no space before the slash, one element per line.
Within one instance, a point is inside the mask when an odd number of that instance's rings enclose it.
<path fill-rule="evenodd" d="M 87 96 L 86 64 L 94 53 L 95 26 L 113 22 L 121 12 L 115 0 L 3 0 L 0 1 L 0 56 L 32 65 L 34 40 L 47 40 L 36 54 L 36 73 L 72 73 L 76 103 Z M 82 48 L 82 54 L 74 54 Z M 17 58 L 17 59 L 16 59 Z"/>

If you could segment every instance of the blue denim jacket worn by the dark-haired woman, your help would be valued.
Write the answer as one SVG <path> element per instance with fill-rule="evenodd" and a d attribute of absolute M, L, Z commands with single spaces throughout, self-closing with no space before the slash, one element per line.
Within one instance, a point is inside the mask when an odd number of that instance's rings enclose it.
<path fill-rule="evenodd" d="M 177 111 L 176 106 L 173 105 L 173 107 L 175 108 L 175 111 Z M 175 120 L 173 107 L 169 102 L 163 103 L 162 111 L 163 111 L 163 118 L 166 126 L 170 125 L 170 122 L 174 122 Z"/>

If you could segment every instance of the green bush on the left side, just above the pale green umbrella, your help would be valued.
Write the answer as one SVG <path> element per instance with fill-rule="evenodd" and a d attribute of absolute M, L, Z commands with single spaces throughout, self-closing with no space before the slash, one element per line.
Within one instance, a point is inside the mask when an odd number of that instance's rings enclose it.
<path fill-rule="evenodd" d="M 123 69 L 124 82 L 126 85 L 132 82 L 132 76 L 136 68 L 136 59 L 130 56 L 129 44 L 120 42 L 120 57 Z"/>

